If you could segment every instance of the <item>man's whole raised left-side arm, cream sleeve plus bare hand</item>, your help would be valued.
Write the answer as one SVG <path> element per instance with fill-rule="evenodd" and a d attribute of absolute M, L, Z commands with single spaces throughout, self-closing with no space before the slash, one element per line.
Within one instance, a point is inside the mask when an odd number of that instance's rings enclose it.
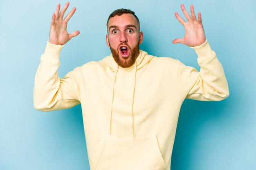
<path fill-rule="evenodd" d="M 67 21 L 75 12 L 73 8 L 63 20 L 68 5 L 67 2 L 59 12 L 60 4 L 58 4 L 56 13 L 52 15 L 49 42 L 47 42 L 45 53 L 41 56 L 35 76 L 34 107 L 37 110 L 60 110 L 80 103 L 79 68 L 68 73 L 64 79 L 58 77 L 59 55 L 63 44 L 79 34 L 79 31 L 67 33 Z"/>

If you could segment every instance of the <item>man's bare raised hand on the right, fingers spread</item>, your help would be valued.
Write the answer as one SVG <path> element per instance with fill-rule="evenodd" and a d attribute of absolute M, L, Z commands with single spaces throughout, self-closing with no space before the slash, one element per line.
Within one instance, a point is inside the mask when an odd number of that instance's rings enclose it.
<path fill-rule="evenodd" d="M 201 13 L 198 13 L 198 20 L 195 17 L 194 7 L 193 5 L 190 6 L 191 17 L 189 13 L 186 11 L 183 4 L 181 4 L 182 12 L 184 13 L 188 22 L 185 22 L 180 15 L 175 12 L 175 17 L 177 20 L 184 26 L 185 28 L 185 36 L 184 38 L 177 38 L 173 40 L 173 43 L 182 43 L 186 44 L 187 46 L 198 46 L 205 42 L 205 34 L 202 25 L 202 18 Z"/>

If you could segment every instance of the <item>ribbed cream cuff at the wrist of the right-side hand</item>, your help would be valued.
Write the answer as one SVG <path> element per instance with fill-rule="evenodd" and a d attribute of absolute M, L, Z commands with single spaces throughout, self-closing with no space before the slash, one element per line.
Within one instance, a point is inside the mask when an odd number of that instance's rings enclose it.
<path fill-rule="evenodd" d="M 191 48 L 194 49 L 195 53 L 198 55 L 198 61 L 207 60 L 215 55 L 215 52 L 211 49 L 207 40 L 203 44 L 192 46 Z"/>

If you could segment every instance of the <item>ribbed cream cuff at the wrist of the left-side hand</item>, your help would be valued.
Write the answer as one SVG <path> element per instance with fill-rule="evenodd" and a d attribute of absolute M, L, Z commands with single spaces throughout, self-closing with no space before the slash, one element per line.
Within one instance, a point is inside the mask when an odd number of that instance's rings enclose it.
<path fill-rule="evenodd" d="M 47 41 L 45 53 L 41 56 L 41 59 L 47 60 L 48 62 L 60 62 L 59 57 L 62 48 L 63 45 L 51 44 Z"/>

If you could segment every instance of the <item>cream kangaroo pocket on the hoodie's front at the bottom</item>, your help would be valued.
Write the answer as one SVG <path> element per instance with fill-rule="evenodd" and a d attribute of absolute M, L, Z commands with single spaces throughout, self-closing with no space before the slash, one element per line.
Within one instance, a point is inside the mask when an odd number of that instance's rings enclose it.
<path fill-rule="evenodd" d="M 161 170 L 157 136 L 100 139 L 91 170 Z"/>

